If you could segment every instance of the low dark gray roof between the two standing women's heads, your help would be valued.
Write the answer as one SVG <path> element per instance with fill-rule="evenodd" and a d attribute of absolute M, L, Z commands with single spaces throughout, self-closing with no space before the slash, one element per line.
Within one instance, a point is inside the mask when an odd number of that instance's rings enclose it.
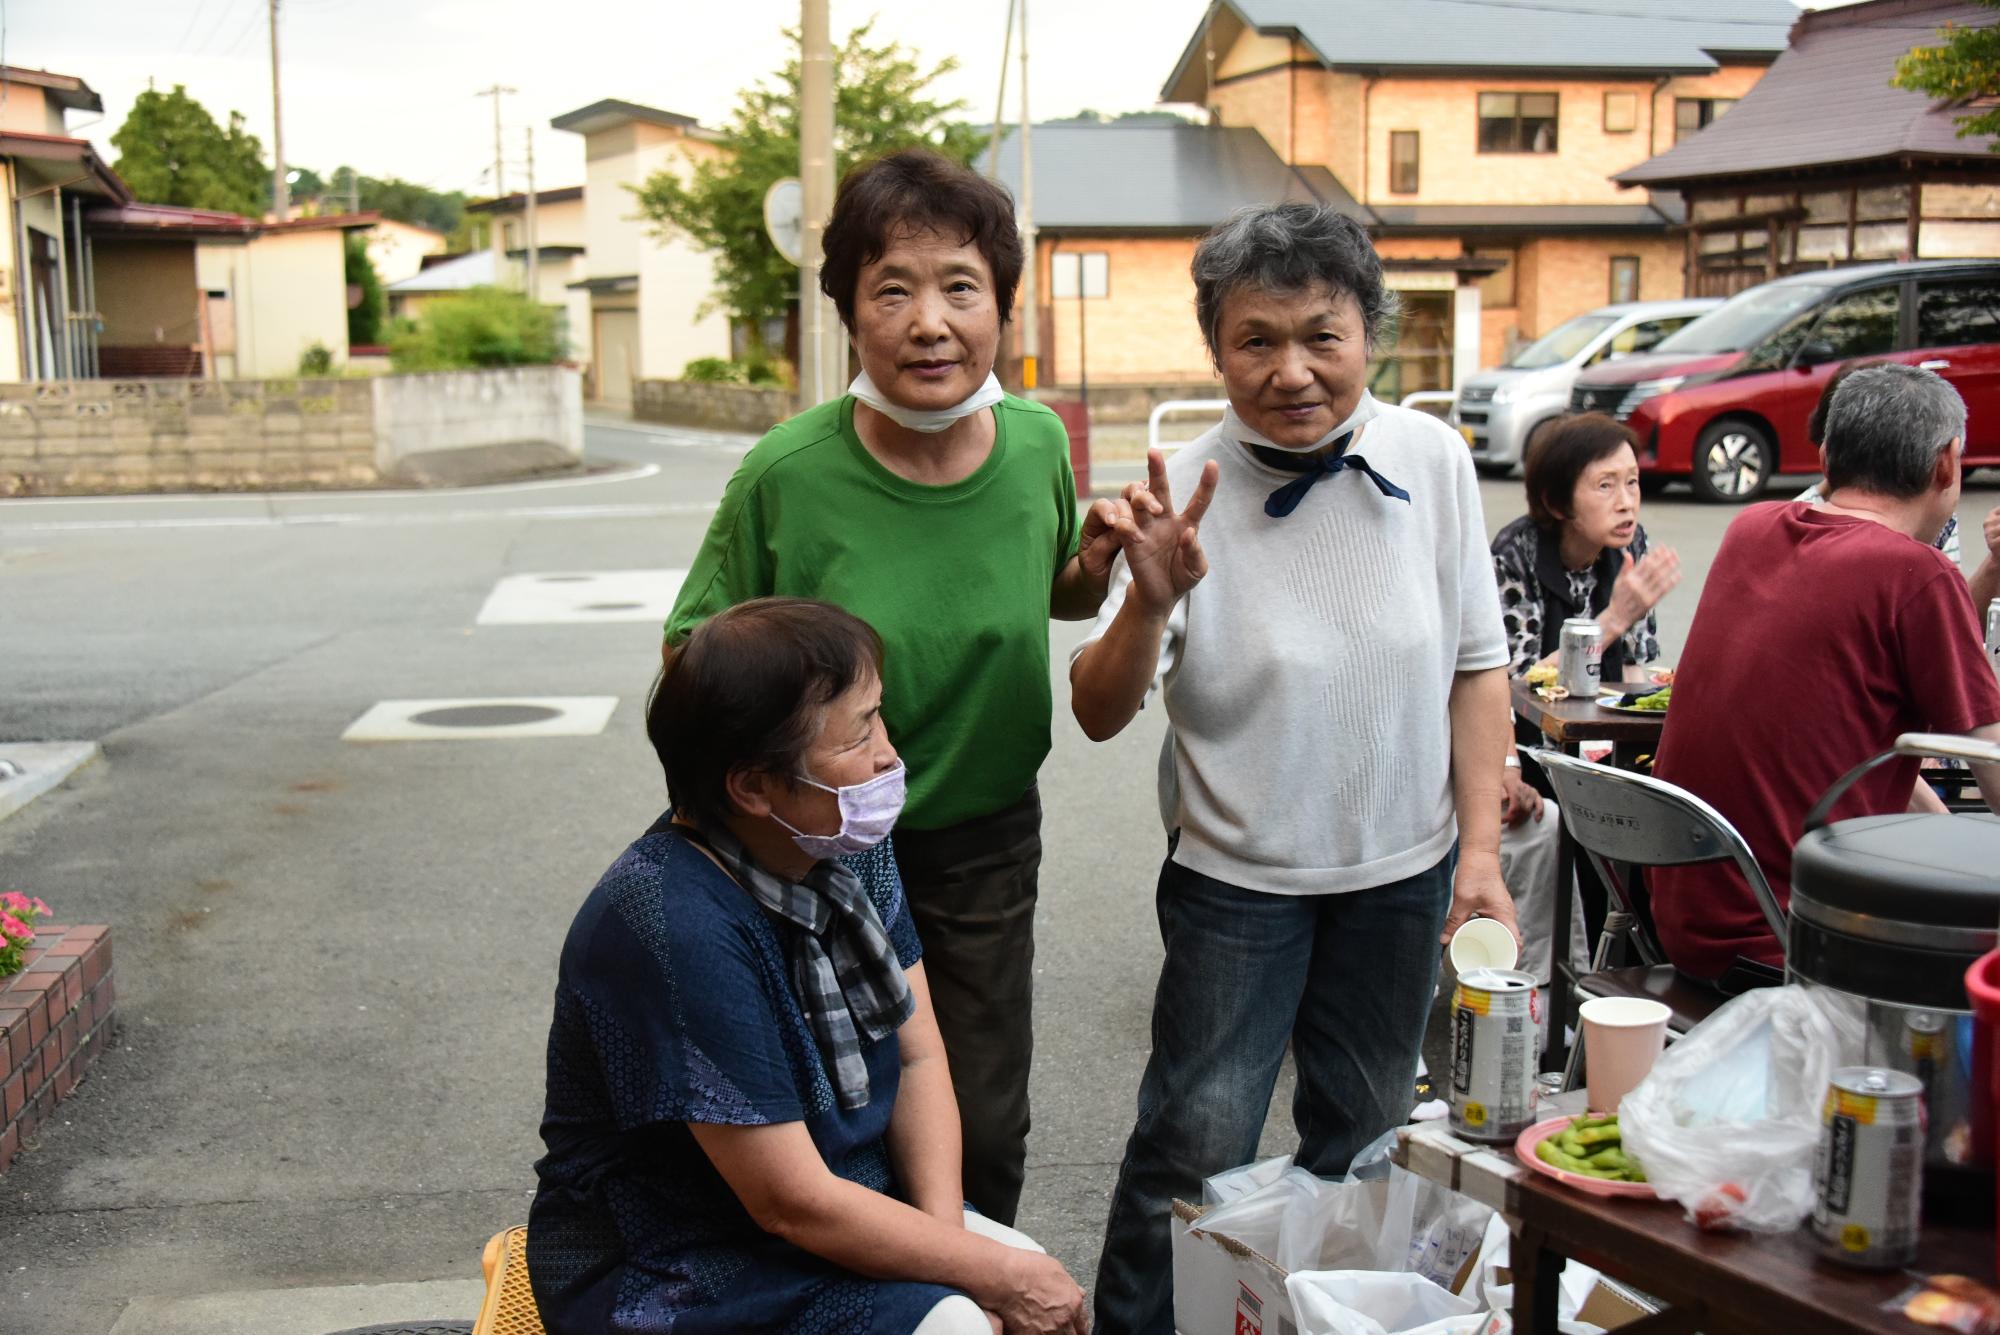
<path fill-rule="evenodd" d="M 1020 130 L 1000 144 L 1020 196 Z M 1288 168 L 1248 126 L 1042 124 L 1034 128 L 1034 226 L 1206 232 L 1238 208 L 1320 200 L 1360 222 L 1322 166 Z"/>

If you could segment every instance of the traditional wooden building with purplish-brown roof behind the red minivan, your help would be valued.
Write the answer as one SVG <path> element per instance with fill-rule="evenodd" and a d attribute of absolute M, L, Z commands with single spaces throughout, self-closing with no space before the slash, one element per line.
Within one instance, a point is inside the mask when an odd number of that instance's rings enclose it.
<path fill-rule="evenodd" d="M 2000 158 L 1958 138 L 1962 106 L 1890 86 L 1896 60 L 1964 0 L 1872 0 L 1802 14 L 1792 44 L 1714 130 L 1618 174 L 1678 190 L 1690 296 L 1730 296 L 1808 268 L 2000 258 Z"/>

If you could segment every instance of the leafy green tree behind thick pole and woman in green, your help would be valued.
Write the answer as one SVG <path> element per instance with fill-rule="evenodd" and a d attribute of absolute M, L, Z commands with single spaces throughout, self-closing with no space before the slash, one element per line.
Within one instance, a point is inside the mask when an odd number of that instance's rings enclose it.
<path fill-rule="evenodd" d="M 834 50 L 836 174 L 912 144 L 970 162 L 986 136 L 954 120 L 966 104 L 924 96 L 958 62 L 942 60 L 924 70 L 914 52 L 896 42 L 872 46 L 872 26 L 862 24 Z M 786 36 L 796 48 L 798 32 L 788 30 Z M 798 84 L 800 58 L 794 54 L 770 82 L 738 98 L 722 130 L 728 154 L 694 164 L 686 180 L 656 172 L 636 188 L 640 216 L 660 236 L 686 236 L 716 258 L 712 308 L 726 310 L 750 330 L 762 330 L 766 320 L 784 320 L 798 294 L 798 270 L 764 234 L 764 192 L 776 180 L 798 176 Z"/>

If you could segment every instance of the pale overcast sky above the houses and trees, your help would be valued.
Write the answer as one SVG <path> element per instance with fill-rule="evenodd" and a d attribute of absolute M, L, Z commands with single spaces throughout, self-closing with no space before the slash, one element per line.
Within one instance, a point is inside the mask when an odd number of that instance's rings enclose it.
<path fill-rule="evenodd" d="M 1062 0 L 1030 8 L 1036 120 L 1084 106 L 1152 106 L 1208 0 Z M 74 74 L 104 120 L 72 134 L 116 158 L 110 136 L 148 80 L 176 82 L 216 120 L 240 110 L 270 150 L 268 0 L 0 0 L 6 64 Z M 1134 22 L 1134 14 L 1144 14 Z M 960 70 L 938 84 L 990 120 L 1006 0 L 832 0 L 834 40 L 876 32 Z M 536 126 L 536 184 L 582 182 L 582 138 L 548 120 L 624 98 L 722 124 L 736 90 L 776 70 L 798 0 L 282 0 L 284 156 L 318 172 L 348 162 L 436 190 L 484 194 L 492 100 L 504 100 L 508 188 L 522 186 L 522 128 Z M 1018 64 L 1014 66 L 1018 72 Z M 1010 116 L 1018 84 L 1010 72 Z"/>

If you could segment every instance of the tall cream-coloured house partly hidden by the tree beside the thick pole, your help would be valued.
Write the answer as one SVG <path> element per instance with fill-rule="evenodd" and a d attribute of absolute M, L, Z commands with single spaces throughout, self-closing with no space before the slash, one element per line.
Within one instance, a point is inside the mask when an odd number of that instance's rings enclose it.
<path fill-rule="evenodd" d="M 730 356 L 730 322 L 704 312 L 714 264 L 686 238 L 654 236 L 636 216 L 628 186 L 654 172 L 686 176 L 722 154 L 694 118 L 636 102 L 604 100 L 552 122 L 584 136 L 584 278 L 588 298 L 588 394 L 628 406 L 632 382 L 678 378 L 694 358 Z"/>

